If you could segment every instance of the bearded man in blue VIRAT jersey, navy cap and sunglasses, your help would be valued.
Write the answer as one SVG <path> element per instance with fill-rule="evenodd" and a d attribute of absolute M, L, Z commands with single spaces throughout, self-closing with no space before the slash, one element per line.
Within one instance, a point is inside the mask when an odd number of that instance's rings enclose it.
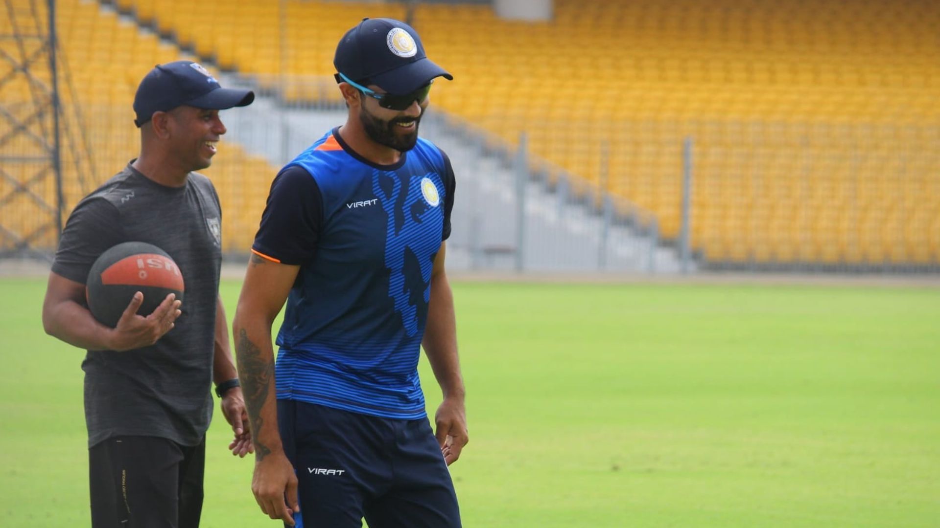
<path fill-rule="evenodd" d="M 457 527 L 446 466 L 467 427 L 444 266 L 454 175 L 417 136 L 431 83 L 451 76 L 389 19 L 348 31 L 334 65 L 349 116 L 274 179 L 232 325 L 252 491 L 289 526 Z M 444 393 L 436 431 L 422 345 Z"/>

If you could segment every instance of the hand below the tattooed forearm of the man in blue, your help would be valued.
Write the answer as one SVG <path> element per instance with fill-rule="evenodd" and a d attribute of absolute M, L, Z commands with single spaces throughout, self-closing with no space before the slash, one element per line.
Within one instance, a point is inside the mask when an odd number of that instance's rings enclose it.
<path fill-rule="evenodd" d="M 280 519 L 294 525 L 293 513 L 300 511 L 297 504 L 297 475 L 283 452 L 268 453 L 255 458 L 255 475 L 251 491 L 261 511 L 271 519 Z"/>

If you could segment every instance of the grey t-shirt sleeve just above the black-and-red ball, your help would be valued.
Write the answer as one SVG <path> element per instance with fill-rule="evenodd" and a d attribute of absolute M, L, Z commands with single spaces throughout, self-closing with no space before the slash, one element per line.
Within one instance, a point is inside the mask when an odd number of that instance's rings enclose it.
<path fill-rule="evenodd" d="M 118 210 L 105 198 L 80 202 L 62 230 L 52 271 L 85 284 L 95 260 L 122 241 L 120 225 Z"/>

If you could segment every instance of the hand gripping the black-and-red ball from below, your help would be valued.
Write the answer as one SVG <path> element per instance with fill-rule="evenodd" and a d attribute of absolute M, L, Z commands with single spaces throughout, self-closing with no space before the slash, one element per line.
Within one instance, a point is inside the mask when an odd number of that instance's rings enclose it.
<path fill-rule="evenodd" d="M 175 293 L 167 295 L 164 302 L 147 317 L 137 314 L 142 303 L 144 294 L 139 291 L 134 293 L 131 303 L 118 319 L 118 326 L 109 334 L 108 349 L 120 352 L 149 347 L 173 329 L 182 313 L 181 302 L 176 300 Z"/>

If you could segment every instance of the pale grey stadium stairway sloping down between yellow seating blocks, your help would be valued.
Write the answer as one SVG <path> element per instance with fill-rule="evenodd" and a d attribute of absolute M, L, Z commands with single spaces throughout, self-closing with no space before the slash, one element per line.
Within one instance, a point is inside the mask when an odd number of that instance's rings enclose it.
<path fill-rule="evenodd" d="M 237 85 L 243 80 L 223 75 L 222 82 Z M 279 166 L 344 122 L 346 111 L 292 108 L 283 117 L 273 98 L 260 95 L 251 106 L 227 116 L 229 139 Z M 605 222 L 592 201 L 572 199 L 564 185 L 540 178 L 528 167 L 525 214 L 518 216 L 512 153 L 493 148 L 479 132 L 455 124 L 445 114 L 429 112 L 421 122 L 421 135 L 446 151 L 457 176 L 458 199 L 447 244 L 451 268 L 509 271 L 521 257 L 525 271 L 681 271 L 677 251 L 661 245 L 648 226 L 628 225 L 617 215 Z M 520 220 L 522 250 L 517 241 Z M 695 268 L 691 263 L 690 269 Z"/>

